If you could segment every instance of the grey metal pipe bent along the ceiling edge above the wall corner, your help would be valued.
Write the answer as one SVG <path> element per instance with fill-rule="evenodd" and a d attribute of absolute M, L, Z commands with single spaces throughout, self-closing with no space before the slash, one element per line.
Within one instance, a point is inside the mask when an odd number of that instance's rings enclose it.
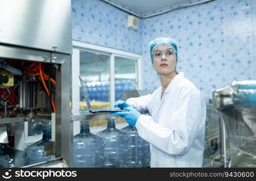
<path fill-rule="evenodd" d="M 127 10 L 126 8 L 123 8 L 120 5 L 114 4 L 113 2 L 110 2 L 108 0 L 101 0 L 101 1 L 104 1 L 107 4 L 110 4 L 110 5 L 113 5 L 114 7 L 118 8 L 120 10 L 123 10 L 126 13 L 133 14 L 134 16 L 139 17 L 141 19 L 146 19 L 146 18 L 149 18 L 149 17 L 158 16 L 160 14 L 168 13 L 170 11 L 178 10 L 178 9 L 185 8 L 185 7 L 190 7 L 192 5 L 203 4 L 203 3 L 206 3 L 206 2 L 211 2 L 211 1 L 216 1 L 216 0 L 205 0 L 205 1 L 200 1 L 200 2 L 194 2 L 194 3 L 191 3 L 191 4 L 187 4 L 187 5 L 182 5 L 180 7 L 171 8 L 170 10 L 165 10 L 165 11 L 161 11 L 161 12 L 158 12 L 158 13 L 150 14 L 150 15 L 147 15 L 147 16 L 141 16 L 140 14 L 137 14 L 137 13 L 134 13 L 133 11 Z"/>

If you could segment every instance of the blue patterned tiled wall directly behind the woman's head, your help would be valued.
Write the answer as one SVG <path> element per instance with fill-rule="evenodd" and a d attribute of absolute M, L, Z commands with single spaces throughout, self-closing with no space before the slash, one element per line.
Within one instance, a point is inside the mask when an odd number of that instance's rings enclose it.
<path fill-rule="evenodd" d="M 178 71 L 203 94 L 255 79 L 256 1 L 217 0 L 145 19 L 143 22 L 145 89 L 159 81 L 149 61 L 149 42 L 156 37 L 176 39 L 180 48 Z"/>

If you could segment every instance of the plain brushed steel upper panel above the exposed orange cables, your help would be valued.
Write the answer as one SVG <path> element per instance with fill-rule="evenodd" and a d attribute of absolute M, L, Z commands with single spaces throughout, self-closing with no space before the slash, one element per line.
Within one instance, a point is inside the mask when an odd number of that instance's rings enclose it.
<path fill-rule="evenodd" d="M 0 12 L 0 43 L 71 54 L 71 0 L 2 0 Z"/>

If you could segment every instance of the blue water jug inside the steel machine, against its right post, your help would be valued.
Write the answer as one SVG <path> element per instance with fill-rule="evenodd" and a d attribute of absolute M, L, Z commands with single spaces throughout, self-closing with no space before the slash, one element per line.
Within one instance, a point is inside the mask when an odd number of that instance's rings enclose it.
<path fill-rule="evenodd" d="M 51 125 L 43 130 L 43 138 L 34 144 L 29 145 L 24 154 L 25 164 L 37 164 L 51 159 L 51 155 L 45 156 L 45 143 L 51 142 Z"/>

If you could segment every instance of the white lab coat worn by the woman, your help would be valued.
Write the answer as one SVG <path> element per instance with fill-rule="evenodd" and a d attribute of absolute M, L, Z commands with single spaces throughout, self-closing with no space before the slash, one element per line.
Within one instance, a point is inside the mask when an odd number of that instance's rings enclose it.
<path fill-rule="evenodd" d="M 137 110 L 149 110 L 135 124 L 150 143 L 150 167 L 202 167 L 206 106 L 200 91 L 183 72 L 146 96 L 129 98 Z"/>

